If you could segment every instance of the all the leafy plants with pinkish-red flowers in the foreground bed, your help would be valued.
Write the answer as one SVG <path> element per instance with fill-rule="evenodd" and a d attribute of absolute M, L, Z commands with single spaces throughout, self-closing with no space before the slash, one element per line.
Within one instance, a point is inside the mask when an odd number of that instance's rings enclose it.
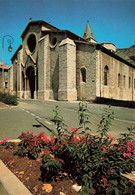
<path fill-rule="evenodd" d="M 80 194 L 134 194 L 135 183 L 122 174 L 135 170 L 135 142 L 132 140 L 134 128 L 117 141 L 108 135 L 113 112 L 105 110 L 98 135 L 91 135 L 88 127 L 87 105 L 79 104 L 79 128 L 69 132 L 63 118 L 55 108 L 56 131 L 48 139 L 43 132 L 22 132 L 14 154 L 30 159 L 42 159 L 40 167 L 42 182 L 57 181 L 66 175 L 82 186 Z M 78 130 L 82 128 L 82 134 Z M 7 142 L 1 145 L 8 145 Z M 48 148 L 44 151 L 44 148 Z"/>

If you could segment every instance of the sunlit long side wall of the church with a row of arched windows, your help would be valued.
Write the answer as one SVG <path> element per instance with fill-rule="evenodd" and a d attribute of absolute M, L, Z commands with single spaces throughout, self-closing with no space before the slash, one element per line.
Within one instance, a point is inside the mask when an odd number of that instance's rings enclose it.
<path fill-rule="evenodd" d="M 107 85 L 104 84 L 106 66 L 108 67 Z M 101 51 L 97 51 L 97 97 L 135 100 L 134 79 L 135 69 Z"/>

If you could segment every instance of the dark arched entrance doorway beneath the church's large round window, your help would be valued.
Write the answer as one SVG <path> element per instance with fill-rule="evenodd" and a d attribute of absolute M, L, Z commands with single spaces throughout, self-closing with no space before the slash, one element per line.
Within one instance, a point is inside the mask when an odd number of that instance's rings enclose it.
<path fill-rule="evenodd" d="M 26 70 L 27 76 L 27 90 L 30 92 L 30 98 L 34 99 L 34 91 L 35 91 L 35 73 L 34 67 L 29 66 Z"/>

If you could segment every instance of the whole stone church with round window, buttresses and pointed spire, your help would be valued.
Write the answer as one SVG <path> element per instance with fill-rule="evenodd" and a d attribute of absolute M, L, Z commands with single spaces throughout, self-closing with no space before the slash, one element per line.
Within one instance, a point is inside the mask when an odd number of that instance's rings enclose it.
<path fill-rule="evenodd" d="M 87 22 L 83 38 L 44 21 L 30 21 L 12 57 L 9 91 L 19 98 L 135 101 L 135 65 L 98 44 Z"/>

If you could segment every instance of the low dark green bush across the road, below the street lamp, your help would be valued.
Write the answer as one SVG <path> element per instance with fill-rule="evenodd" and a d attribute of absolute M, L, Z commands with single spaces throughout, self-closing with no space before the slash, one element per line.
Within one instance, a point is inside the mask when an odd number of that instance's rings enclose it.
<path fill-rule="evenodd" d="M 0 102 L 14 106 L 18 104 L 17 97 L 8 93 L 0 93 Z"/>

